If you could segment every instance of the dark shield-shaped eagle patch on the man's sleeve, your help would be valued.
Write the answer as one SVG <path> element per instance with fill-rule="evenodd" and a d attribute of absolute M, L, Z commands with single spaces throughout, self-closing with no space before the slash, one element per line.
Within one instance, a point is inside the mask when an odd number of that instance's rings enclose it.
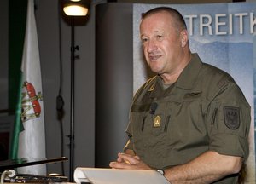
<path fill-rule="evenodd" d="M 234 106 L 224 106 L 224 124 L 229 129 L 238 129 L 240 126 L 240 109 Z"/>

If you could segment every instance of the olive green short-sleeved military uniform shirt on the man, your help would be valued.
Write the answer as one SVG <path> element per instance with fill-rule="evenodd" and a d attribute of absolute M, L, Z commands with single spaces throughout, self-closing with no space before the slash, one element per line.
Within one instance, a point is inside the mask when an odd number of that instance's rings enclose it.
<path fill-rule="evenodd" d="M 250 114 L 234 79 L 193 54 L 169 88 L 163 89 L 155 76 L 137 91 L 125 149 L 158 169 L 188 163 L 207 151 L 246 159 Z M 236 183 L 237 178 L 216 183 Z"/>

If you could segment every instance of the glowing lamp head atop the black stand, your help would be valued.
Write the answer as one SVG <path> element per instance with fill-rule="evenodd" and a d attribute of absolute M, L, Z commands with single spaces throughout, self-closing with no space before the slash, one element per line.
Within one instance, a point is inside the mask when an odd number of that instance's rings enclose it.
<path fill-rule="evenodd" d="M 67 16 L 86 16 L 89 11 L 90 1 L 88 0 L 62 0 L 63 11 Z"/>

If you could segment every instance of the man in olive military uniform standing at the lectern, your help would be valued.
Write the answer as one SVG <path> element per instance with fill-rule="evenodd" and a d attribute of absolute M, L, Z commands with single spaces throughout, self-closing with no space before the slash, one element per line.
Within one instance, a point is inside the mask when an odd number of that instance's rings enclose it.
<path fill-rule="evenodd" d="M 190 52 L 177 10 L 149 10 L 140 32 L 157 75 L 134 96 L 125 153 L 110 167 L 158 170 L 172 184 L 237 183 L 251 121 L 241 89 Z"/>

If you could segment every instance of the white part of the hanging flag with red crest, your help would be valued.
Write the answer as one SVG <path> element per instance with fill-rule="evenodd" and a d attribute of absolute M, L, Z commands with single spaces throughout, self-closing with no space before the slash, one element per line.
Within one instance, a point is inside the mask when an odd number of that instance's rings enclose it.
<path fill-rule="evenodd" d="M 44 106 L 34 0 L 28 0 L 21 64 L 20 100 L 16 109 L 12 158 L 45 158 Z M 18 173 L 45 175 L 46 165 L 18 168 Z"/>

